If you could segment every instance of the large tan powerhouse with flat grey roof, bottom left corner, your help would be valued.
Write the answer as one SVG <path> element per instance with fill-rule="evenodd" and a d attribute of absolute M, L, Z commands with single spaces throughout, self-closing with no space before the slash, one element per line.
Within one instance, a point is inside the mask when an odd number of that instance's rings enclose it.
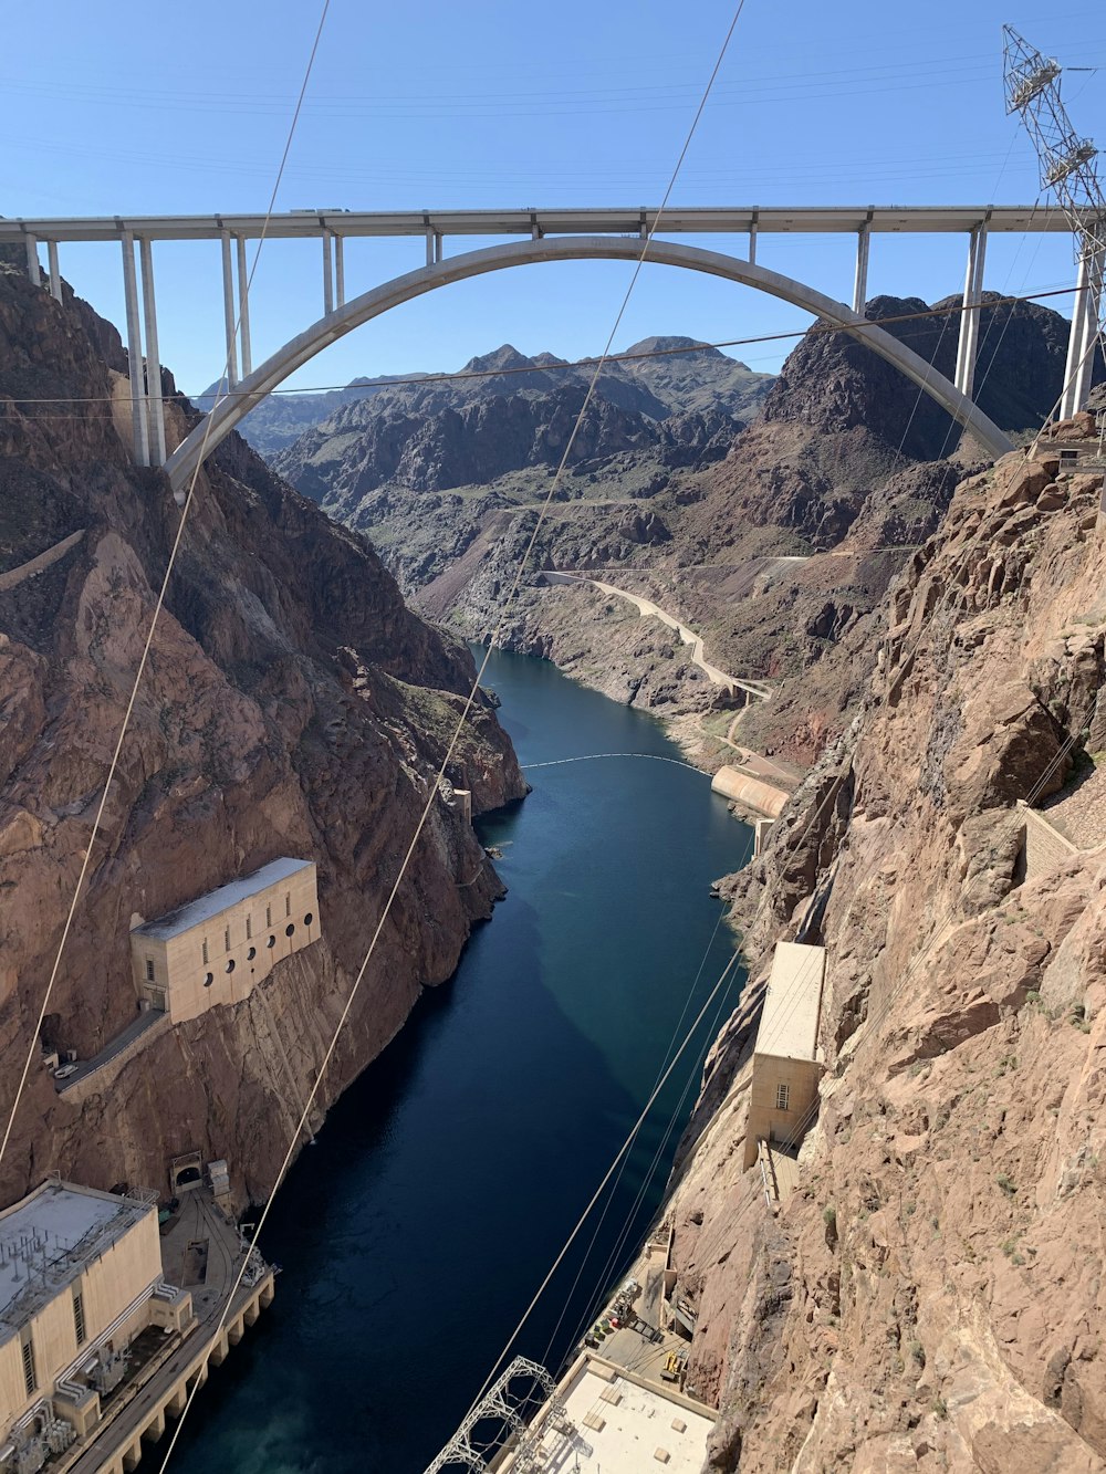
<path fill-rule="evenodd" d="M 192 1297 L 162 1281 L 153 1198 L 50 1179 L 0 1213 L 0 1470 L 38 1468 L 100 1421 L 149 1328 Z"/>

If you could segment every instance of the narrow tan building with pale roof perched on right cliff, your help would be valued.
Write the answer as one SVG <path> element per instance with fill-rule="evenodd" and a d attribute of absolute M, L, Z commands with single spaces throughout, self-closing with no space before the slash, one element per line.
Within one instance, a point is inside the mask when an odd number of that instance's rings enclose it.
<path fill-rule="evenodd" d="M 745 1166 L 757 1162 L 757 1144 L 798 1147 L 818 1097 L 821 1058 L 818 1023 L 826 980 L 826 949 L 779 942 L 752 1055 Z"/>

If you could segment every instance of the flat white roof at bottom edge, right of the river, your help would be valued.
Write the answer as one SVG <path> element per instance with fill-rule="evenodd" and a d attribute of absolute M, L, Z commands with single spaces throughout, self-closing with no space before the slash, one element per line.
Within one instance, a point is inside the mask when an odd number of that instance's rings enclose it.
<path fill-rule="evenodd" d="M 602 1363 L 588 1358 L 559 1394 L 575 1433 L 565 1437 L 554 1428 L 541 1447 L 547 1474 L 699 1474 L 706 1458 L 706 1440 L 714 1427 L 708 1409 L 693 1412 L 659 1389 L 643 1387 L 627 1377 L 608 1381 Z M 608 1400 L 605 1396 L 608 1394 Z M 584 1419 L 591 1418 L 591 1425 Z M 596 1427 L 602 1419 L 602 1427 Z M 678 1425 L 683 1424 L 683 1431 Z M 656 1458 L 658 1449 L 668 1459 Z M 510 1470 L 513 1461 L 507 1464 Z"/>

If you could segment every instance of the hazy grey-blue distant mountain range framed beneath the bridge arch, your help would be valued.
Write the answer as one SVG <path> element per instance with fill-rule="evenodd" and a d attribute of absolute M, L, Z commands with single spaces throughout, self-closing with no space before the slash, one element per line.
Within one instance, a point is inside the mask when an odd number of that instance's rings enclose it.
<path fill-rule="evenodd" d="M 643 357 L 636 358 L 640 354 Z M 644 355 L 655 357 L 644 357 Z M 357 501 L 382 486 L 447 491 L 554 467 L 594 368 L 510 343 L 457 374 L 349 397 L 271 464 L 316 501 Z M 615 455 L 658 466 L 720 460 L 752 419 L 771 377 L 690 338 L 652 338 L 603 366 L 569 463 L 597 470 Z"/>

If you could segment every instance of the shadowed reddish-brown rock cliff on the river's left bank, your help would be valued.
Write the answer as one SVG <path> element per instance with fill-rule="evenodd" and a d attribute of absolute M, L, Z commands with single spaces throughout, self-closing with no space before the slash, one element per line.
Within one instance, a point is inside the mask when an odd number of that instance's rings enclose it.
<path fill-rule="evenodd" d="M 130 463 L 105 405 L 80 402 L 109 395 L 119 363 L 118 338 L 83 304 L 0 273 L 0 1061 L 12 1086 L 180 516 L 164 476 Z M 29 402 L 47 395 L 78 402 L 65 417 Z M 171 413 L 178 430 L 190 411 Z M 317 861 L 323 939 L 248 1004 L 159 1035 L 80 1107 L 35 1066 L 0 1198 L 52 1167 L 97 1187 L 164 1187 L 186 1150 L 227 1157 L 239 1198 L 268 1192 L 472 674 L 360 538 L 240 441 L 221 448 L 196 488 L 44 1036 L 81 1057 L 102 1048 L 136 1013 L 133 915 L 274 856 Z M 476 809 L 525 792 L 482 697 L 448 777 Z M 420 988 L 450 976 L 498 893 L 472 830 L 435 793 L 320 1113 Z"/>

